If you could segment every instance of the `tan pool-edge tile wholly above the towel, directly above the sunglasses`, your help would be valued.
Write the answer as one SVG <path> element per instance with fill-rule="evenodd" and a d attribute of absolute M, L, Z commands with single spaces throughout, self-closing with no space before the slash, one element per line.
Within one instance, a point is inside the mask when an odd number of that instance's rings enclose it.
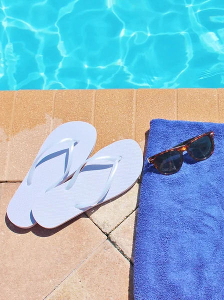
<path fill-rule="evenodd" d="M 179 120 L 218 122 L 217 90 L 214 88 L 180 88 L 177 103 Z"/>

